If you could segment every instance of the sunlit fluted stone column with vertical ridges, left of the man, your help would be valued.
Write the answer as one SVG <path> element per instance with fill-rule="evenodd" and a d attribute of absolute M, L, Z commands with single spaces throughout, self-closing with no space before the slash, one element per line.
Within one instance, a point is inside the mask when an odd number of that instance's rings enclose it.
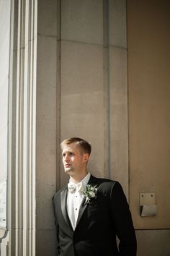
<path fill-rule="evenodd" d="M 12 1 L 9 81 L 9 255 L 35 255 L 37 1 Z"/>

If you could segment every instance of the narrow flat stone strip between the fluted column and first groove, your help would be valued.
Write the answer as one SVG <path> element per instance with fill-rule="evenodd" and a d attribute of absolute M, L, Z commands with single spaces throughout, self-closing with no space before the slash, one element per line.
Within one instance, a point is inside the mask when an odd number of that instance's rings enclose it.
<path fill-rule="evenodd" d="M 36 253 L 56 255 L 57 1 L 37 3 Z"/>

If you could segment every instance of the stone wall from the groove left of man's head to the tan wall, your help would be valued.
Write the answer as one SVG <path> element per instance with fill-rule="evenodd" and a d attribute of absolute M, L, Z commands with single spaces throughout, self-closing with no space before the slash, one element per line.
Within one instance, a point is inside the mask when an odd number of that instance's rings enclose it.
<path fill-rule="evenodd" d="M 119 179 L 128 195 L 125 1 L 108 4 L 62 1 L 61 140 L 91 142 L 89 171 Z M 67 180 L 62 168 L 61 186 Z"/>

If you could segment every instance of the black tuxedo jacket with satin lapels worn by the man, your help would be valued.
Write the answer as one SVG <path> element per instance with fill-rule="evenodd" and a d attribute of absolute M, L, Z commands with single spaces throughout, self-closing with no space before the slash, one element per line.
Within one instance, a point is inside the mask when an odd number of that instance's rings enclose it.
<path fill-rule="evenodd" d="M 58 256 L 135 256 L 136 238 L 128 202 L 118 182 L 91 175 L 97 198 L 81 203 L 73 231 L 66 210 L 68 188 L 53 197 Z M 116 235 L 120 239 L 117 248 Z"/>

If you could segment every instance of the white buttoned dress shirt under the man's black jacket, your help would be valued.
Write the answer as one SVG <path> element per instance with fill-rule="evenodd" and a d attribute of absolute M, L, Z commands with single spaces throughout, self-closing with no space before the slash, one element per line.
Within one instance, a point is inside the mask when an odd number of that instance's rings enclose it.
<path fill-rule="evenodd" d="M 90 179 L 91 174 L 88 173 L 84 179 L 81 180 L 81 183 L 84 187 L 84 189 L 86 188 L 86 184 L 88 184 L 89 179 Z M 71 179 L 69 181 L 69 184 L 73 184 L 73 182 L 71 182 Z M 83 190 L 84 190 L 83 189 Z M 75 191 L 75 192 L 69 192 L 68 190 L 68 196 L 67 196 L 67 212 L 68 212 L 68 217 L 70 218 L 71 221 L 71 225 L 73 226 L 73 230 L 76 227 L 76 222 L 79 216 L 79 210 L 80 210 L 80 205 L 81 202 L 84 198 L 84 193 L 83 191 Z"/>

